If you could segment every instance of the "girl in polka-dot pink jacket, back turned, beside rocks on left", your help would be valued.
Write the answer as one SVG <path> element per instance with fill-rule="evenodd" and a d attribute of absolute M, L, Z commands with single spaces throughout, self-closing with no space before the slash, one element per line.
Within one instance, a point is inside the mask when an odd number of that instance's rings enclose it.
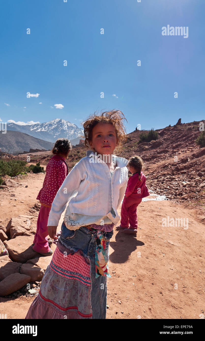
<path fill-rule="evenodd" d="M 68 165 L 65 161 L 69 151 L 72 149 L 71 143 L 67 138 L 59 138 L 52 149 L 54 156 L 46 166 L 46 175 L 37 199 L 40 201 L 41 208 L 38 215 L 37 230 L 33 240 L 33 250 L 44 255 L 50 256 L 53 251 L 49 247 L 47 235 L 47 222 L 51 205 L 55 195 L 68 175 Z"/>

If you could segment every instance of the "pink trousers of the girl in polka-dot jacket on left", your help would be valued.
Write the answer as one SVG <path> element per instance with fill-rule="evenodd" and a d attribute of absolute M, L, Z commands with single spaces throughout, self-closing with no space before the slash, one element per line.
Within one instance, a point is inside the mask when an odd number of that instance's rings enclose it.
<path fill-rule="evenodd" d="M 33 240 L 33 250 L 36 252 L 49 252 L 50 247 L 48 243 L 48 239 L 46 238 L 48 235 L 48 219 L 51 207 L 45 207 L 41 205 L 38 220 L 37 220 L 37 230 Z"/>

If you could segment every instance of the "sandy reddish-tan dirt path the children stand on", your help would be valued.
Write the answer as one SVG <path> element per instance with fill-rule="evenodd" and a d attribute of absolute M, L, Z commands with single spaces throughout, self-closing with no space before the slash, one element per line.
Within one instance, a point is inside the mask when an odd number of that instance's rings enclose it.
<path fill-rule="evenodd" d="M 29 174 L 18 181 L 22 187 L 1 190 L 4 225 L 11 217 L 29 213 L 44 176 Z M 197 209 L 173 201 L 147 201 L 138 206 L 137 237 L 114 228 L 109 249 L 112 277 L 107 281 L 107 318 L 198 319 L 204 314 L 205 225 L 198 215 Z M 168 221 L 168 217 L 184 218 L 186 223 L 188 219 L 188 225 L 162 226 L 162 219 Z M 58 229 L 62 221 L 63 215 Z M 24 318 L 33 299 L 0 297 L 0 313 L 6 313 L 7 318 Z"/>

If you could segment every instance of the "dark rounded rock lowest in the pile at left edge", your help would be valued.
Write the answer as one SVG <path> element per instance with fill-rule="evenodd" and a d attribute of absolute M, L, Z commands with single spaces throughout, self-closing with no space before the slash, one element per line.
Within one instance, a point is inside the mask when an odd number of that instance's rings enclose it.
<path fill-rule="evenodd" d="M 30 276 L 22 273 L 12 273 L 0 282 L 0 296 L 6 296 L 19 290 L 31 281 Z"/>

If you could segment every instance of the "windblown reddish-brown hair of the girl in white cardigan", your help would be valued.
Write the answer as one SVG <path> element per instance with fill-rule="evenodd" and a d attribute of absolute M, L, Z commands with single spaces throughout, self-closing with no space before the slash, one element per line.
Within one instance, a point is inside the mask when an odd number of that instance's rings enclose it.
<path fill-rule="evenodd" d="M 95 113 L 93 115 L 90 115 L 86 121 L 82 122 L 85 135 L 85 146 L 87 147 L 87 149 L 90 147 L 89 142 L 92 142 L 92 130 L 95 125 L 97 123 L 111 123 L 115 128 L 116 136 L 118 139 L 118 144 L 115 150 L 118 152 L 121 151 L 122 145 L 127 140 L 126 130 L 122 122 L 123 119 L 126 120 L 124 114 L 120 110 L 115 109 L 105 111 L 101 115 L 96 115 Z"/>

